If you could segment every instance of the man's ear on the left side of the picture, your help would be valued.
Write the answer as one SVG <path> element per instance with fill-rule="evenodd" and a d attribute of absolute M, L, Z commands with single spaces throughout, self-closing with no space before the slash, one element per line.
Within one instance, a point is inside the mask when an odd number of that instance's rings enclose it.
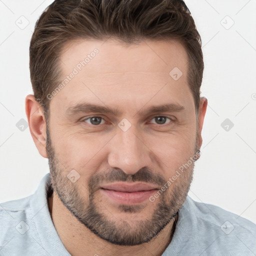
<path fill-rule="evenodd" d="M 47 158 L 46 153 L 46 122 L 41 104 L 35 100 L 34 95 L 28 94 L 25 98 L 26 117 L 29 130 L 35 146 L 41 156 Z"/>

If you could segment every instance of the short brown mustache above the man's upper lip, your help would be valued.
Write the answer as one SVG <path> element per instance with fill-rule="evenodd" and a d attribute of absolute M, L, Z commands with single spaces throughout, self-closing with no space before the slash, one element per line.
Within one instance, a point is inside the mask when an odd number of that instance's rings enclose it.
<path fill-rule="evenodd" d="M 146 166 L 140 168 L 135 174 L 126 174 L 120 168 L 109 167 L 108 171 L 97 173 L 90 178 L 88 182 L 89 193 L 93 193 L 99 187 L 100 183 L 110 183 L 115 181 L 140 181 L 159 186 L 165 183 L 165 179 L 162 175 L 154 173 Z"/>

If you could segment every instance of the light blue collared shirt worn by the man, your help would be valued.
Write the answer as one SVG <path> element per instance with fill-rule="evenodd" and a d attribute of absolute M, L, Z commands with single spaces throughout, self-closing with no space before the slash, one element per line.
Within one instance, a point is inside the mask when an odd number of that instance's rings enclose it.
<path fill-rule="evenodd" d="M 49 187 L 47 173 L 34 194 L 0 204 L 1 256 L 70 256 L 50 217 Z M 179 210 L 172 240 L 162 254 L 170 255 L 255 256 L 256 224 L 187 196 Z"/>

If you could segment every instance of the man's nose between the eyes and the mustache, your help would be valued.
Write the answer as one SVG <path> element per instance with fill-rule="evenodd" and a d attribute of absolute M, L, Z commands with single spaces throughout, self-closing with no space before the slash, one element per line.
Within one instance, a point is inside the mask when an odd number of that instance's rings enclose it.
<path fill-rule="evenodd" d="M 134 174 L 140 168 L 151 165 L 152 152 L 146 145 L 145 135 L 139 134 L 135 125 L 126 131 L 116 127 L 116 135 L 108 144 L 108 164 L 112 168 L 118 167 L 126 174 Z"/>

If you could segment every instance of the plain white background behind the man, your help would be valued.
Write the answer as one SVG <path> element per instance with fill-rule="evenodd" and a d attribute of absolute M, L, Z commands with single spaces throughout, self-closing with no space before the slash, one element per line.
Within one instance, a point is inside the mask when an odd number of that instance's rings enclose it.
<path fill-rule="evenodd" d="M 25 96 L 32 94 L 29 40 L 51 2 L 0 0 L 0 202 L 30 195 L 49 172 L 29 128 L 20 131 L 16 123 L 27 120 Z M 256 0 L 186 4 L 202 38 L 201 95 L 208 99 L 189 195 L 256 223 Z M 20 19 L 29 22 L 24 29 Z M 226 118 L 234 124 L 228 131 L 221 127 Z"/>

